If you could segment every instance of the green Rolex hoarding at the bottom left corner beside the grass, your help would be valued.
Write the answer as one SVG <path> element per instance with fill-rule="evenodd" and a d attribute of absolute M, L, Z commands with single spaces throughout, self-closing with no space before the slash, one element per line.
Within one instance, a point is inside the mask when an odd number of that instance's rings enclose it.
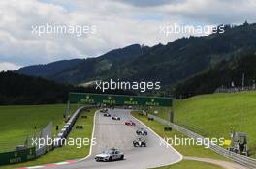
<path fill-rule="evenodd" d="M 0 153 L 0 165 L 15 164 L 26 162 L 36 158 L 35 147 L 24 150 Z"/>

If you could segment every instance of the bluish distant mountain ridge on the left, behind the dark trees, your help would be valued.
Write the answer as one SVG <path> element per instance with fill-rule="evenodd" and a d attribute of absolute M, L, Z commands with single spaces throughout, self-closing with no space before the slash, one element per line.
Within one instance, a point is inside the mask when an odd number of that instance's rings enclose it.
<path fill-rule="evenodd" d="M 114 49 L 97 58 L 63 60 L 46 65 L 28 66 L 16 70 L 16 72 L 25 75 L 45 77 L 62 83 L 78 84 L 84 81 L 84 78 L 92 78 L 94 74 L 108 70 L 112 67 L 112 64 L 140 56 L 148 49 L 149 47 L 147 46 L 133 44 L 124 48 Z M 78 74 L 76 73 L 77 69 L 87 73 Z M 72 78 L 74 75 L 76 77 Z"/>

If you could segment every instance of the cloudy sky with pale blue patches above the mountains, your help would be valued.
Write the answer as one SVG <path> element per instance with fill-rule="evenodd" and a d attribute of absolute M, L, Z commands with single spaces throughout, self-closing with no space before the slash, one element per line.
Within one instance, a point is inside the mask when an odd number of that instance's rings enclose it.
<path fill-rule="evenodd" d="M 160 27 L 255 22 L 255 9 L 255 0 L 1 0 L 0 70 L 165 44 L 188 35 L 166 36 Z M 33 32 L 46 24 L 95 30 L 80 37 Z"/>

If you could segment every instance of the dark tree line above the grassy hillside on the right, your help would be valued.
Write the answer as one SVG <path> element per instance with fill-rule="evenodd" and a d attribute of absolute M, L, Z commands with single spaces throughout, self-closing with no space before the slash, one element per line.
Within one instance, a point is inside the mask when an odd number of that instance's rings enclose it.
<path fill-rule="evenodd" d="M 256 80 L 256 55 L 248 54 L 240 59 L 222 61 L 215 67 L 195 75 L 176 85 L 176 98 L 187 98 L 200 94 L 213 93 L 217 88 L 241 87 L 242 74 L 244 86 L 252 86 Z"/>

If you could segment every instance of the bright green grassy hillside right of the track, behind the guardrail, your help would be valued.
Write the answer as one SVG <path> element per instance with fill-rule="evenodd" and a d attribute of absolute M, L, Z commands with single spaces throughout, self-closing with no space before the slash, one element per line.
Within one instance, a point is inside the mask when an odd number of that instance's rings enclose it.
<path fill-rule="evenodd" d="M 168 118 L 168 108 L 159 116 Z M 212 94 L 175 101 L 175 121 L 181 126 L 202 130 L 208 137 L 230 136 L 230 128 L 248 133 L 250 154 L 256 157 L 256 92 Z"/>

